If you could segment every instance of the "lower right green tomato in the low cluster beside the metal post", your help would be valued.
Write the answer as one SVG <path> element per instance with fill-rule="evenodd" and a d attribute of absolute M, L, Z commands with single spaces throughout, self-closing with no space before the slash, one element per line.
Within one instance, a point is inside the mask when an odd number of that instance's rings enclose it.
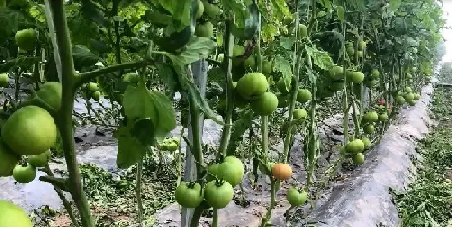
<path fill-rule="evenodd" d="M 204 190 L 204 199 L 212 208 L 223 209 L 234 198 L 234 188 L 229 182 L 224 182 L 223 185 L 217 185 L 216 181 L 211 181 L 206 184 Z"/>

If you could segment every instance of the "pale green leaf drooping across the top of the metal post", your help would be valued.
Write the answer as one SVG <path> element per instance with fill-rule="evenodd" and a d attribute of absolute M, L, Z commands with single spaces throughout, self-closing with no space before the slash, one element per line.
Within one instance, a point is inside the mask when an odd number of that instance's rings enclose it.
<path fill-rule="evenodd" d="M 180 54 L 168 53 L 168 57 L 171 58 L 175 65 L 188 65 L 200 58 L 205 58 L 216 47 L 216 42 L 207 37 L 191 37 L 186 49 Z"/>

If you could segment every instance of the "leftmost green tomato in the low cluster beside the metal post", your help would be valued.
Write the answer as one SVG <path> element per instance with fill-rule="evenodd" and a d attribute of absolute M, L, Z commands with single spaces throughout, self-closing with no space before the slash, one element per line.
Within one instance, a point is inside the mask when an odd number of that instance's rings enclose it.
<path fill-rule="evenodd" d="M 190 183 L 181 182 L 175 191 L 175 200 L 181 207 L 194 209 L 197 208 L 204 199 L 200 183 L 195 183 L 190 187 Z"/>

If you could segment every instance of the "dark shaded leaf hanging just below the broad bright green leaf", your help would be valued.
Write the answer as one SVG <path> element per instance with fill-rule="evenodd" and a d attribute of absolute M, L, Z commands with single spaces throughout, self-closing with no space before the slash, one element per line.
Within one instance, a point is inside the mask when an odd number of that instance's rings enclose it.
<path fill-rule="evenodd" d="M 120 124 L 113 133 L 113 137 L 118 140 L 116 165 L 119 169 L 127 169 L 135 165 L 148 151 L 148 146 L 141 144 L 136 137 L 131 135 L 131 125 L 133 125 L 133 122 L 129 120 L 127 126 Z"/>

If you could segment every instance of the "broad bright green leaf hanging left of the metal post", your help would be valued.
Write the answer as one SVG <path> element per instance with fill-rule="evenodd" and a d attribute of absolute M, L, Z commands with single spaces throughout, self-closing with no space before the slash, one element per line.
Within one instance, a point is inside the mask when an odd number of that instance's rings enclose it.
<path fill-rule="evenodd" d="M 123 106 L 129 119 L 149 118 L 154 124 L 154 137 L 166 137 L 176 127 L 175 110 L 161 92 L 147 90 L 143 83 L 129 85 L 124 92 Z"/>

